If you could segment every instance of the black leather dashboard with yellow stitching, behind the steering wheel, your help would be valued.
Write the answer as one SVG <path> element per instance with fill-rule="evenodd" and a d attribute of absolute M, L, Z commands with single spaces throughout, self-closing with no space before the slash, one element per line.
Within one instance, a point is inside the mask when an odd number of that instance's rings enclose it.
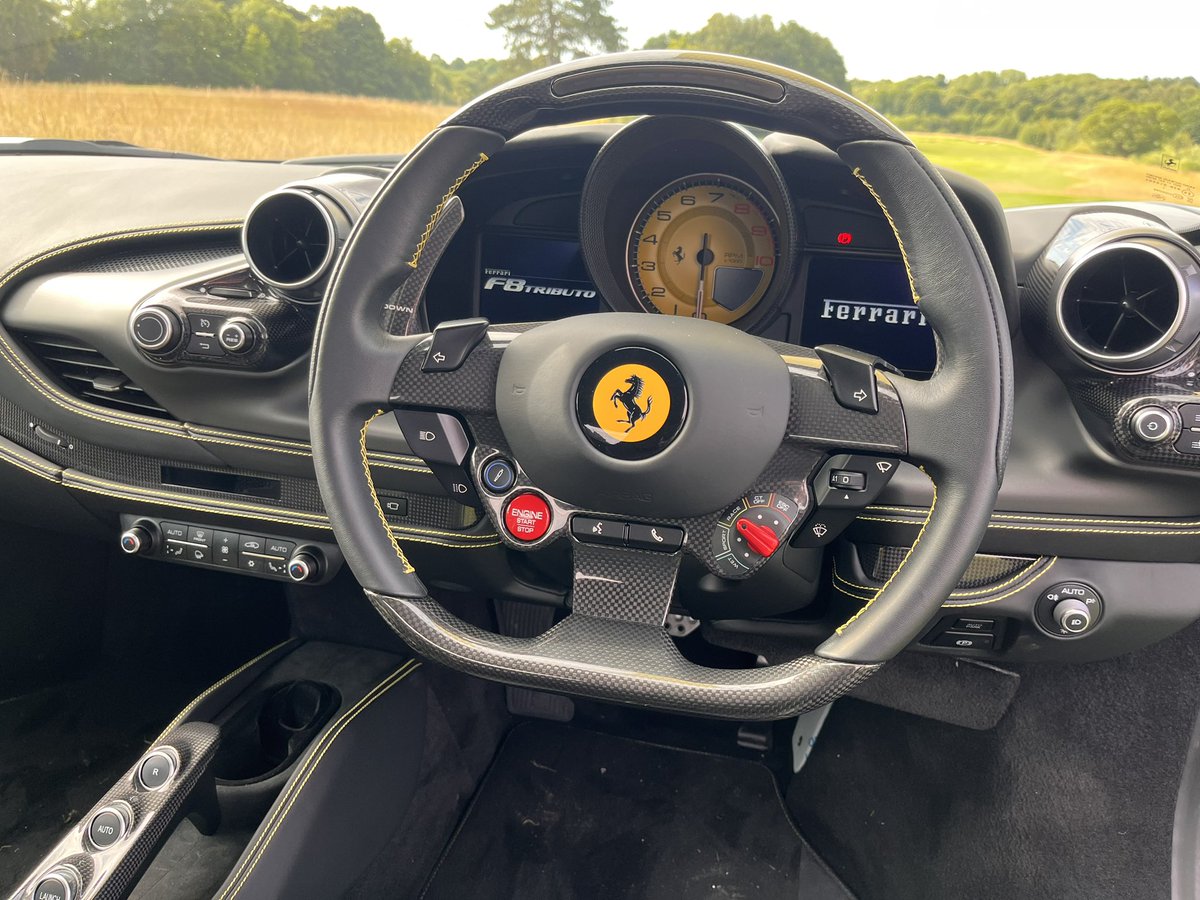
<path fill-rule="evenodd" d="M 581 196 L 589 167 L 616 130 L 530 132 L 472 179 L 461 192 L 464 223 L 426 293 L 426 326 L 480 312 L 485 270 L 502 269 L 485 264 L 485 235 L 581 239 Z M 836 221 L 852 223 L 842 229 L 847 234 L 871 234 L 872 224 L 882 222 L 870 196 L 833 154 L 782 136 L 767 137 L 762 146 L 794 204 L 798 262 L 778 307 L 754 330 L 798 342 L 804 336 L 805 304 L 812 302 L 806 286 L 815 259 L 865 265 L 898 254 L 886 242 L 854 246 L 852 239 L 839 247 L 840 241 L 830 244 L 817 233 L 812 210 L 844 216 Z M 160 292 L 208 283 L 245 268 L 239 229 L 252 204 L 284 185 L 334 170 L 370 176 L 385 167 L 372 169 L 353 161 L 272 164 L 0 155 L 0 176 L 11 186 L 7 215 L 0 222 L 0 485 L 7 499 L 2 515 L 49 518 L 72 529 L 108 529 L 114 536 L 130 516 L 148 515 L 244 530 L 253 524 L 296 540 L 331 540 L 307 443 L 307 353 L 296 350 L 259 371 L 164 365 L 131 341 L 130 319 L 139 304 Z M 1050 576 L 1037 583 L 1016 580 L 1008 592 L 980 595 L 992 604 L 988 607 L 992 614 L 1015 623 L 1008 637 L 998 637 L 986 652 L 1079 658 L 1153 640 L 1200 616 L 1200 601 L 1184 599 L 1190 598 L 1196 574 L 1187 564 L 1200 563 L 1200 469 L 1190 468 L 1182 454 L 1142 452 L 1144 445 L 1129 437 L 1128 421 L 1139 404 L 1151 401 L 1169 415 L 1183 415 L 1180 397 L 1194 395 L 1194 368 L 1190 374 L 1187 366 L 1171 368 L 1169 377 L 1140 373 L 1136 378 L 1142 380 L 1132 392 L 1134 382 L 1127 376 L 1097 372 L 1072 353 L 1050 319 L 1034 314 L 1052 305 L 1057 289 L 1050 276 L 1039 281 L 1039 266 L 1080 214 L 1103 212 L 1112 217 L 1114 230 L 1158 235 L 1186 251 L 1200 240 L 1200 211 L 1106 204 L 1006 214 L 978 182 L 944 174 L 983 238 L 1013 330 L 1013 446 L 982 552 L 1062 560 L 1060 574 L 1069 570 L 1079 581 L 1087 581 L 1092 571 L 1094 587 L 1105 595 L 1109 620 L 1133 622 L 1124 626 L 1126 640 L 1110 629 L 1098 632 L 1091 644 L 1049 641 L 1030 620 L 1039 588 L 1051 583 Z M 592 275 L 593 283 L 601 283 Z M 602 293 L 599 301 L 605 301 Z M 151 400 L 148 408 L 119 408 L 103 397 L 97 403 L 73 390 L 77 385 L 64 380 L 71 371 L 56 368 L 55 352 L 47 349 L 49 338 L 67 338 L 71 353 L 83 347 L 96 354 L 88 359 L 102 359 L 124 385 L 142 391 Z M 104 382 L 101 388 L 106 385 L 112 386 Z M 1096 409 L 1108 407 L 1088 400 L 1097 392 L 1115 398 L 1106 419 Z M 1175 427 L 1182 428 L 1177 439 L 1183 440 L 1187 421 L 1176 421 Z M 413 545 L 427 581 L 522 599 L 562 599 L 556 562 L 560 554 L 546 551 L 544 559 L 517 560 L 514 568 L 486 517 L 443 490 L 390 416 L 377 420 L 367 448 L 377 486 L 397 504 L 403 500 L 404 512 L 395 506 L 389 524 L 401 541 Z M 202 474 L 169 475 L 175 469 Z M 229 479 L 238 478 L 240 485 L 259 479 L 274 486 L 251 493 L 226 490 L 235 484 Z M 82 505 L 64 506 L 61 498 L 48 504 L 48 487 L 66 487 Z M 847 536 L 862 546 L 906 546 L 929 503 L 928 480 L 905 467 Z M 1087 560 L 1099 562 L 1090 568 Z M 1121 563 L 1136 566 L 1138 578 L 1122 574 Z M 793 616 L 787 626 L 798 634 L 818 632 L 827 608 L 822 604 L 835 606 L 839 592 L 852 604 L 863 590 L 877 587 L 866 569 L 851 559 L 844 560 L 840 581 L 827 571 L 829 577 L 822 577 L 829 596 L 808 618 Z M 1031 568 L 1033 574 L 1042 578 L 1044 571 Z M 1136 583 L 1145 586 L 1141 595 L 1124 600 Z M 1170 599 L 1158 604 L 1156 598 Z M 721 618 L 737 618 L 736 602 L 734 598 Z M 1122 612 L 1122 602 L 1135 605 L 1136 613 Z M 1144 626 L 1147 619 L 1154 626 Z"/>

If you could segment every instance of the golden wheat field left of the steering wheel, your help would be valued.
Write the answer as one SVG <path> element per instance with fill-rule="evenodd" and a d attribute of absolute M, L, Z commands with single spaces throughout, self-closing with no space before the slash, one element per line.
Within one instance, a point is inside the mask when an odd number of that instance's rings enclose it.
<path fill-rule="evenodd" d="M 448 107 L 290 91 L 0 82 L 0 136 L 287 160 L 403 152 Z"/>

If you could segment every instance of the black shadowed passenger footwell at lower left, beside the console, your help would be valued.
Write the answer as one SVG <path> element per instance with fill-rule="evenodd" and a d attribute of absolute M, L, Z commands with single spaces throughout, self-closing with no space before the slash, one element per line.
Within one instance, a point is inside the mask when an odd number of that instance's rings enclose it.
<path fill-rule="evenodd" d="M 0 893 L 192 697 L 286 636 L 282 594 L 247 578 L 113 559 L 107 583 L 73 586 L 88 588 L 102 626 L 76 648 L 78 670 L 0 701 Z M 43 640 L 61 626 L 47 617 Z"/>

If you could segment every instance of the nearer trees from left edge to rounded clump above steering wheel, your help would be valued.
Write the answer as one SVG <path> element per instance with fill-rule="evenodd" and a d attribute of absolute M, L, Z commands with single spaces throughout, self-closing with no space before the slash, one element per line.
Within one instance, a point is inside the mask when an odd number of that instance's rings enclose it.
<path fill-rule="evenodd" d="M 508 78 L 590 53 L 625 49 L 610 0 L 511 0 L 488 28 L 506 59 L 425 56 L 388 40 L 353 6 L 301 12 L 283 0 L 2 0 L 0 76 L 55 82 L 264 88 L 462 103 Z M 649 46 L 754 54 L 846 85 L 828 40 L 794 22 L 714 16 L 696 35 Z M 758 55 L 763 55 L 760 52 Z"/>

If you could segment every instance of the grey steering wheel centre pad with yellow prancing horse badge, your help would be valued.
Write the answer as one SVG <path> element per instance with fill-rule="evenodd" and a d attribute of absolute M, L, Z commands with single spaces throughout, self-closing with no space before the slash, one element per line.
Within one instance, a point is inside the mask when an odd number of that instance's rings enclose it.
<path fill-rule="evenodd" d="M 514 337 L 500 427 L 529 479 L 564 503 L 696 516 L 748 490 L 782 443 L 787 366 L 702 319 L 596 313 Z"/>

